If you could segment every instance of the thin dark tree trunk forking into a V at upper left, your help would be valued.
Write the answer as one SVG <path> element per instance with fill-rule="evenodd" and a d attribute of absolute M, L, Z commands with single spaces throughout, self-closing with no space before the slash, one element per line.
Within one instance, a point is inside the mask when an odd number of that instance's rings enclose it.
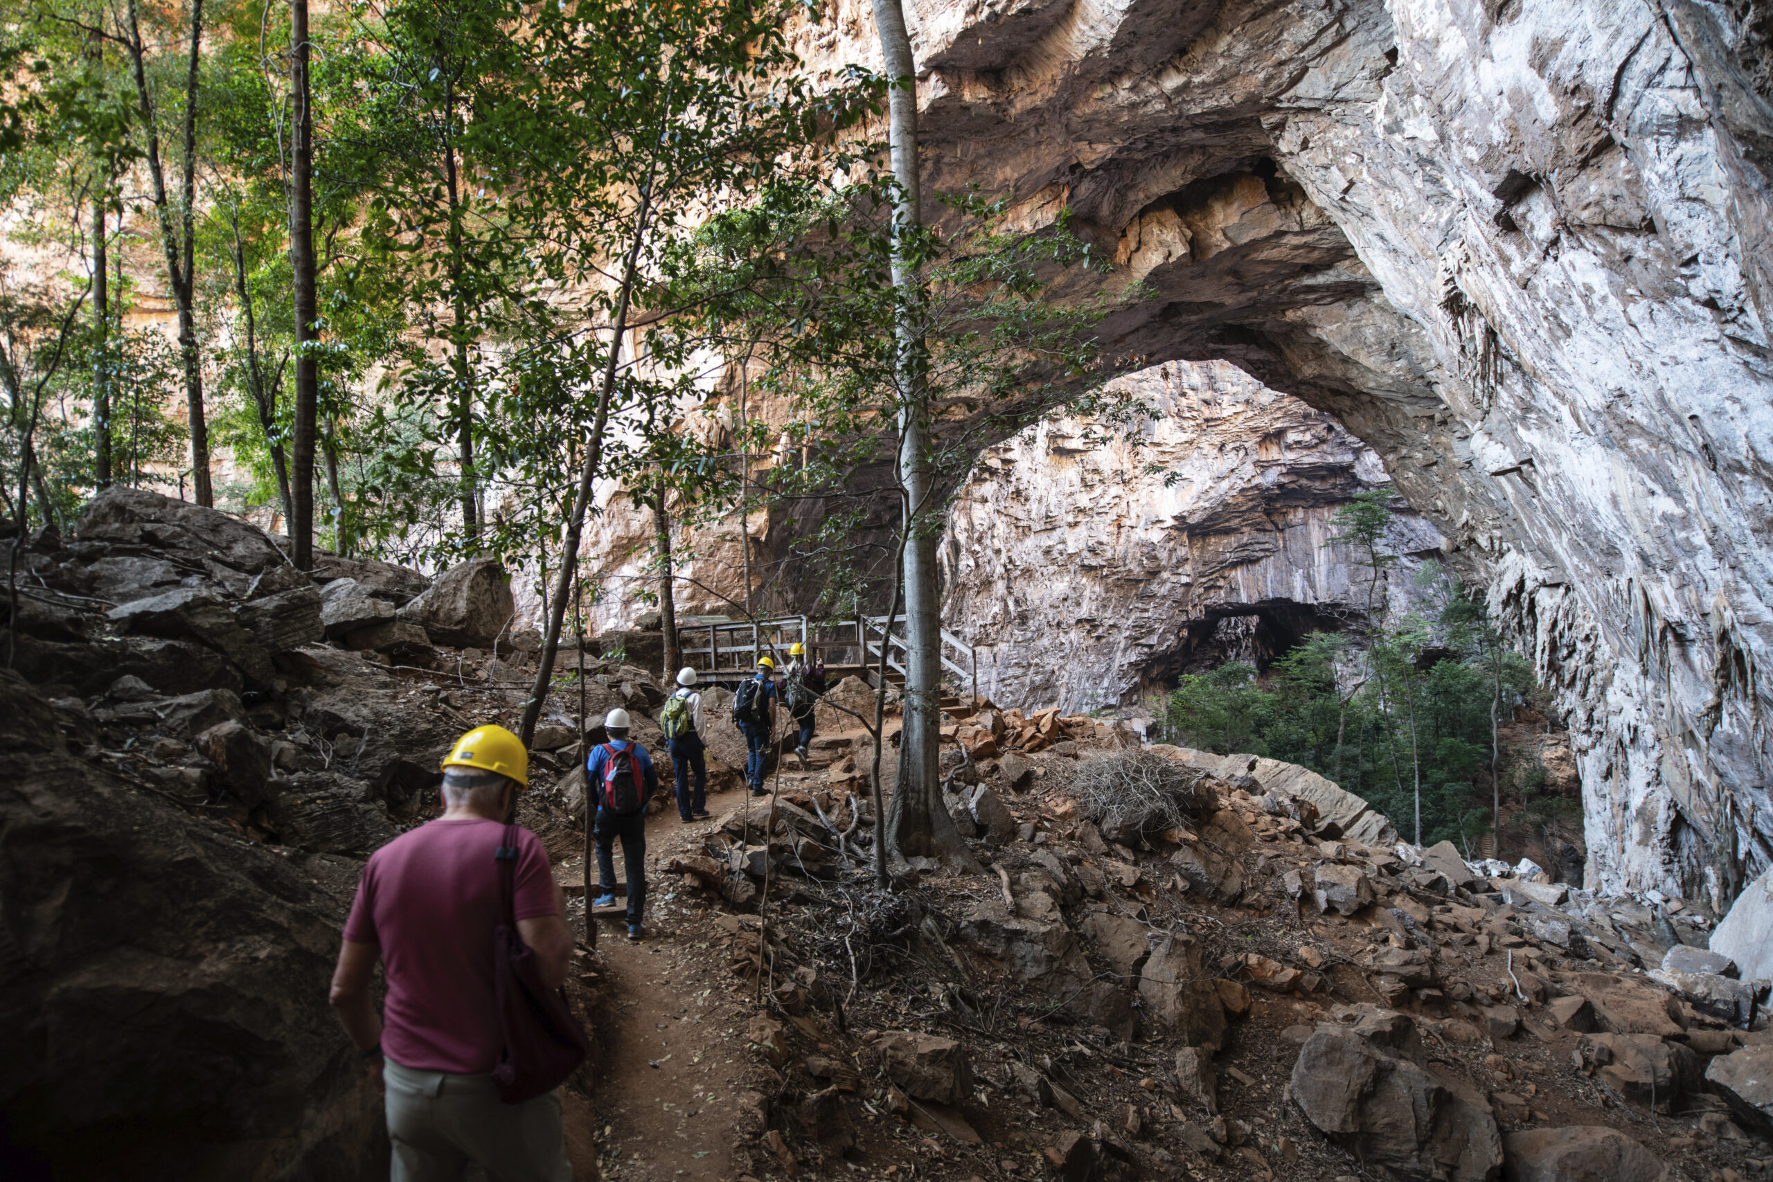
<path fill-rule="evenodd" d="M 303 4 L 303 0 L 294 0 Z M 160 245 L 167 255 L 167 287 L 179 315 L 179 354 L 184 363 L 184 409 L 190 418 L 191 439 L 191 496 L 199 505 L 215 503 L 209 487 L 209 427 L 204 422 L 204 377 L 202 358 L 197 354 L 197 315 L 193 299 L 193 269 L 197 264 L 197 83 L 202 64 L 204 4 L 191 0 L 191 51 L 184 78 L 184 168 L 181 175 L 179 225 L 172 222 L 172 200 L 167 193 L 165 163 L 160 158 L 160 122 L 154 113 L 154 97 L 147 89 L 147 50 L 142 44 L 142 28 L 137 16 L 137 0 L 128 4 L 129 37 L 128 50 L 135 73 L 137 103 L 142 108 L 142 122 L 147 129 L 147 174 L 152 183 L 154 211 L 160 214 Z M 303 25 L 307 9 L 303 7 Z M 181 237 L 183 230 L 183 237 Z"/>

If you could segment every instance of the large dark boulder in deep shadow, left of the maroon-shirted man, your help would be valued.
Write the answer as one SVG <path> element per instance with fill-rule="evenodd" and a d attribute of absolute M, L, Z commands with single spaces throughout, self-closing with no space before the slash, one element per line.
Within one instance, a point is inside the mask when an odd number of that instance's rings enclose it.
<path fill-rule="evenodd" d="M 11 673 L 0 744 L 7 1155 L 142 1182 L 385 1171 L 381 1100 L 324 1005 L 355 865 L 243 842 L 62 753 Z"/>

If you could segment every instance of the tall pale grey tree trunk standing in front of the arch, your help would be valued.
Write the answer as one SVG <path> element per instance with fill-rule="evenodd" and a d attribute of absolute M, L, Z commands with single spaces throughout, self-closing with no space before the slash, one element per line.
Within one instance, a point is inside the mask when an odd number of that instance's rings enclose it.
<path fill-rule="evenodd" d="M 922 168 L 917 133 L 917 66 L 901 0 L 874 0 L 874 27 L 886 60 L 888 147 L 897 183 L 894 206 L 892 284 L 897 292 L 899 370 L 899 494 L 904 544 L 904 774 L 894 787 L 888 815 L 892 852 L 901 858 L 972 861 L 954 819 L 941 803 L 941 620 L 936 611 L 936 496 L 929 470 L 926 346 L 920 315 L 922 278 L 904 239 L 922 227 Z M 886 631 L 892 633 L 892 618 Z"/>

